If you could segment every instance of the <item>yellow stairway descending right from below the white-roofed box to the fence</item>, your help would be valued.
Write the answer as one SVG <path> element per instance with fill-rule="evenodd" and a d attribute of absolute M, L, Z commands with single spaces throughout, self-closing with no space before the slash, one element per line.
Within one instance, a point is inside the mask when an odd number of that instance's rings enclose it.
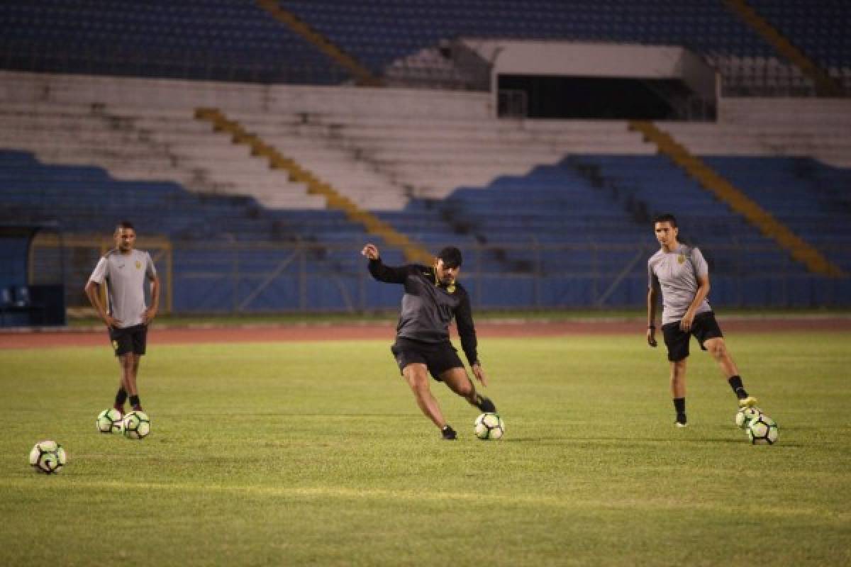
<path fill-rule="evenodd" d="M 832 264 L 816 248 L 803 241 L 789 227 L 780 223 L 774 215 L 757 205 L 740 189 L 723 179 L 709 165 L 686 150 L 683 145 L 673 139 L 652 122 L 633 121 L 630 128 L 644 134 L 649 142 L 656 145 L 660 152 L 668 156 L 672 162 L 682 167 L 686 173 L 697 179 L 705 190 L 710 191 L 718 199 L 726 202 L 735 212 L 743 215 L 748 222 L 754 224 L 764 235 L 777 241 L 781 247 L 789 250 L 792 258 L 802 262 L 807 269 L 815 274 L 842 276 L 842 269 Z"/>

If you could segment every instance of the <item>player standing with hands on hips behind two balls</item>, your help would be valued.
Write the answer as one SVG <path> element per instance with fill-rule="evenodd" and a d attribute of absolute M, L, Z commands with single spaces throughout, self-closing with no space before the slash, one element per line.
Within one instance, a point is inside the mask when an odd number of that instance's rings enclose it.
<path fill-rule="evenodd" d="M 141 411 L 136 377 L 139 361 L 145 354 L 148 325 L 157 316 L 159 278 L 148 252 L 134 250 L 136 231 L 128 221 L 118 223 L 116 247 L 106 252 L 94 267 L 86 283 L 86 295 L 98 316 L 106 323 L 112 349 L 121 367 L 115 409 L 124 414 L 124 402 L 130 399 L 134 411 Z M 151 281 L 151 307 L 145 304 L 145 281 Z M 109 302 L 105 308 L 100 299 L 100 285 L 106 283 Z"/>

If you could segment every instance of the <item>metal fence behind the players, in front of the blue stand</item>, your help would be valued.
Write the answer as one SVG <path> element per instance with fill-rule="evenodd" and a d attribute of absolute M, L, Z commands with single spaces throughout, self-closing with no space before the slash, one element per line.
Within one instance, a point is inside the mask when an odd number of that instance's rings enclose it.
<path fill-rule="evenodd" d="M 365 312 L 394 309 L 401 286 L 374 281 L 360 255 L 363 243 L 328 245 L 276 242 L 152 240 L 163 284 L 163 310 L 174 313 L 257 314 Z M 31 283 L 55 279 L 64 265 L 66 304 L 86 307 L 83 286 L 102 246 L 83 239 L 37 242 Z M 145 241 L 140 248 L 146 249 Z M 629 308 L 644 304 L 652 243 L 523 243 L 461 245 L 460 282 L 478 309 Z M 851 278 L 808 274 L 778 261 L 777 249 L 703 248 L 711 266 L 711 300 L 729 307 L 851 305 Z M 832 251 L 851 258 L 848 248 Z M 381 249 L 386 264 L 402 253 Z M 62 261 L 60 261 L 62 258 Z M 846 263 L 847 264 L 847 263 Z"/>

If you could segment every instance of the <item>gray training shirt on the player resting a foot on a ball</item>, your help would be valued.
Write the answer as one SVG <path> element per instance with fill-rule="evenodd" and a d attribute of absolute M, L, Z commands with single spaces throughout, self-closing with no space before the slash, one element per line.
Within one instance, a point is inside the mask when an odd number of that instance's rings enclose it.
<path fill-rule="evenodd" d="M 683 319 L 697 293 L 697 276 L 708 275 L 709 266 L 700 248 L 680 244 L 673 252 L 661 250 L 647 261 L 648 287 L 659 284 L 662 290 L 662 325 Z M 706 299 L 694 315 L 711 311 Z"/>

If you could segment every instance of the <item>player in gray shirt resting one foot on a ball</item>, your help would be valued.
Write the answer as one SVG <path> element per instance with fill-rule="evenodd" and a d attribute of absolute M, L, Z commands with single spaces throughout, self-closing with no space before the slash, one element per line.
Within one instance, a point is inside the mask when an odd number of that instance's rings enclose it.
<path fill-rule="evenodd" d="M 671 361 L 671 396 L 677 411 L 677 427 L 686 427 L 686 358 L 691 336 L 700 349 L 708 350 L 721 369 L 742 407 L 752 406 L 757 399 L 749 396 L 742 385 L 739 369 L 730 356 L 706 301 L 709 294 L 709 268 L 696 247 L 677 241 L 677 218 L 662 214 L 654 218 L 656 240 L 661 248 L 647 263 L 647 342 L 656 346 L 656 287 L 662 290 L 662 334 Z"/>

